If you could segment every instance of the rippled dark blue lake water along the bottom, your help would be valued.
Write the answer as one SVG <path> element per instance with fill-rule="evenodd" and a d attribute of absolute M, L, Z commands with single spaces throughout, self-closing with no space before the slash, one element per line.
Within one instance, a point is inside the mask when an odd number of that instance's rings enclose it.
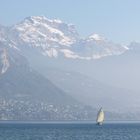
<path fill-rule="evenodd" d="M 140 123 L 0 122 L 0 140 L 140 140 Z"/>

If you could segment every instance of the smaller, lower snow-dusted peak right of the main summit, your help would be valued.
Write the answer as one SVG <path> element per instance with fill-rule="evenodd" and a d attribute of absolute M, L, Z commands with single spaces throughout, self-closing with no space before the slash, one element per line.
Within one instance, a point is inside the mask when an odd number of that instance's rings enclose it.
<path fill-rule="evenodd" d="M 105 56 L 120 55 L 128 50 L 127 46 L 113 43 L 98 34 L 92 34 L 74 44 L 74 50 L 81 59 L 99 59 Z"/>

